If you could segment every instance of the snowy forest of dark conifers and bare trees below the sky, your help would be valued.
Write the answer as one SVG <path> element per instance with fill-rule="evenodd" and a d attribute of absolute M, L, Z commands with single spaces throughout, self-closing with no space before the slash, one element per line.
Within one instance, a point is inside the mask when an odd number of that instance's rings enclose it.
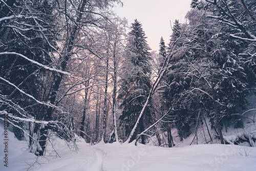
<path fill-rule="evenodd" d="M 192 0 L 158 51 L 116 5 L 0 1 L 0 124 L 36 156 L 53 135 L 75 147 L 256 146 L 256 1 Z"/>

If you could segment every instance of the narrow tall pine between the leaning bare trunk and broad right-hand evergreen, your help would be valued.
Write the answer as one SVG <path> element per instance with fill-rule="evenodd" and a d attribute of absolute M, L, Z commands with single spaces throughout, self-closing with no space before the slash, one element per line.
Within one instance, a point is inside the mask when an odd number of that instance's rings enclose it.
<path fill-rule="evenodd" d="M 179 20 L 175 20 L 173 33 L 170 36 L 170 42 L 168 49 L 172 50 L 172 58 L 170 60 L 172 67 L 170 67 L 163 78 L 166 87 L 163 92 L 163 108 L 167 111 L 170 108 L 175 110 L 169 112 L 169 122 L 173 122 L 177 127 L 178 134 L 183 140 L 189 135 L 189 111 L 188 105 L 181 102 L 182 93 L 189 87 L 189 79 L 187 79 L 181 73 L 184 72 L 184 66 L 186 62 L 184 61 L 184 55 L 182 52 L 182 28 Z M 175 45 L 175 46 L 173 46 Z M 169 126 L 168 126 L 169 127 Z M 171 142 L 169 142 L 171 143 Z"/>

